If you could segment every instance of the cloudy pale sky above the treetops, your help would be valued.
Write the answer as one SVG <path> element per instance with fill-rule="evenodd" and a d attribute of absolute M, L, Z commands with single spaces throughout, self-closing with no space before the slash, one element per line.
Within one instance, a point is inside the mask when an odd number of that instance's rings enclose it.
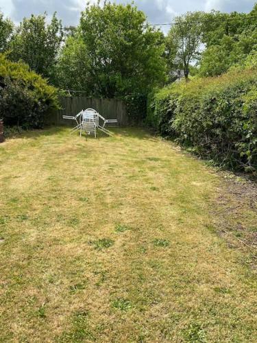
<path fill-rule="evenodd" d="M 144 10 L 151 23 L 167 23 L 177 14 L 186 11 L 212 9 L 223 12 L 249 12 L 257 0 L 134 0 Z M 58 12 L 64 25 L 76 25 L 79 13 L 84 10 L 86 0 L 0 0 L 0 10 L 5 16 L 19 23 L 25 16 L 47 12 Z M 96 2 L 91 0 L 90 2 Z M 130 1 L 116 0 L 116 3 Z"/>

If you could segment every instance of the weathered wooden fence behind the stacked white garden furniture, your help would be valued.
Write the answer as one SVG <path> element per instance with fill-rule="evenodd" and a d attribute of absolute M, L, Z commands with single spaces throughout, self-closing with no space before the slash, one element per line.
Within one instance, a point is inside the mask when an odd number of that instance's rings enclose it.
<path fill-rule="evenodd" d="M 117 99 L 95 99 L 92 97 L 62 97 L 60 98 L 62 110 L 47 116 L 46 123 L 56 126 L 71 126 L 72 121 L 62 119 L 63 115 L 75 116 L 81 110 L 94 108 L 106 119 L 117 119 L 118 126 L 127 126 L 127 110 L 125 103 Z"/>

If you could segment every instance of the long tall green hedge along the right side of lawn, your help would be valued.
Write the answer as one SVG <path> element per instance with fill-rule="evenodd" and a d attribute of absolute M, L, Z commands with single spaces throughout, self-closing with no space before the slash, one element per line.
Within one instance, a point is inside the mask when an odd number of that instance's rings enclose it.
<path fill-rule="evenodd" d="M 257 167 L 257 69 L 173 84 L 149 99 L 148 120 L 216 165 Z"/>

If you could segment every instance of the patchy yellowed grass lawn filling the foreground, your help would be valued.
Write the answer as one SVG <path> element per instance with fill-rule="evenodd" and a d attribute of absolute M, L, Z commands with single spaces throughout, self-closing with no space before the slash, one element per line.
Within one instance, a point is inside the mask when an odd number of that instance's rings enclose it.
<path fill-rule="evenodd" d="M 139 129 L 0 145 L 1 342 L 257 342 L 220 176 Z"/>

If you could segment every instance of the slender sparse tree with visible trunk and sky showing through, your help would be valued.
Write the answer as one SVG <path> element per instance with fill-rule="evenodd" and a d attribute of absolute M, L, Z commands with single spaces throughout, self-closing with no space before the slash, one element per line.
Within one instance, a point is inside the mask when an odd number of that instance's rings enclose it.
<path fill-rule="evenodd" d="M 202 38 L 202 12 L 187 12 L 175 18 L 175 25 L 167 37 L 167 54 L 170 71 L 182 68 L 188 80 L 189 66 L 200 56 Z"/>

